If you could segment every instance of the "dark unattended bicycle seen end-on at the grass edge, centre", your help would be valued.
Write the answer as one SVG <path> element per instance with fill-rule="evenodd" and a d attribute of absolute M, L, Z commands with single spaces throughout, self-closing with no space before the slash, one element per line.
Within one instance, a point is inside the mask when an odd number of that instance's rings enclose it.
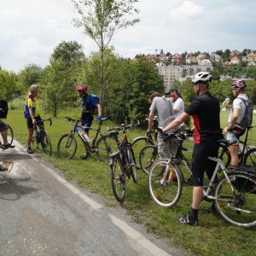
<path fill-rule="evenodd" d="M 113 195 L 117 201 L 122 203 L 125 201 L 126 195 L 126 180 L 132 178 L 134 183 L 137 183 L 137 167 L 131 143 L 128 142 L 126 130 L 131 129 L 138 124 L 121 125 L 114 127 L 108 131 L 123 131 L 123 139 L 121 142 L 117 139 L 119 151 L 109 155 L 109 167 L 111 186 Z"/>

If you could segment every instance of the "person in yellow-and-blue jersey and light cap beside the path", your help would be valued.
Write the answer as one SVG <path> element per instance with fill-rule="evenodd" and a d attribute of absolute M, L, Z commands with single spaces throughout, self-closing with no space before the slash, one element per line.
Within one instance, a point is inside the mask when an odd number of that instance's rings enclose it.
<path fill-rule="evenodd" d="M 28 95 L 26 96 L 26 105 L 24 108 L 24 117 L 26 118 L 26 126 L 27 126 L 27 153 L 32 154 L 31 142 L 33 135 L 33 125 L 35 121 L 42 120 L 40 117 L 40 108 L 38 101 L 38 84 L 32 84 L 30 86 L 30 90 Z"/>

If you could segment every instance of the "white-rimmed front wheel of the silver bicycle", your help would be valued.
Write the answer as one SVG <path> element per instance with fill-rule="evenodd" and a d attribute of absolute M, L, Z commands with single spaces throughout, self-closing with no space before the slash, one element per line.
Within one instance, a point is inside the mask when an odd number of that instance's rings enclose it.
<path fill-rule="evenodd" d="M 177 181 L 170 179 L 165 184 L 160 183 L 163 175 L 165 175 L 164 172 L 166 172 L 166 170 L 163 169 L 166 168 L 168 168 L 168 175 L 175 173 Z M 171 170 L 171 172 L 169 172 L 169 170 Z M 148 184 L 150 195 L 161 207 L 174 207 L 182 194 L 182 174 L 177 166 L 169 166 L 167 160 L 159 160 L 154 163 L 149 172 Z"/>

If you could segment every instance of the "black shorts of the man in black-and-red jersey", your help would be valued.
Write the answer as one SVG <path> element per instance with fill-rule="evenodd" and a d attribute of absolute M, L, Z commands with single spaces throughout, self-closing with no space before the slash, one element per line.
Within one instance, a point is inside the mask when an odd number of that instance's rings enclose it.
<path fill-rule="evenodd" d="M 208 160 L 208 156 L 218 157 L 218 143 L 195 144 L 192 154 L 192 180 L 194 186 L 203 185 L 203 177 L 211 178 L 216 167 L 216 162 Z"/>

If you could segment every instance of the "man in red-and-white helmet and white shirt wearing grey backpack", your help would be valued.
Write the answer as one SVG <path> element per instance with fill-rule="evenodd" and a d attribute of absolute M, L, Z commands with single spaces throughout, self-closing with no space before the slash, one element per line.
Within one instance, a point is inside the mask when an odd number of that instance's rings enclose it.
<path fill-rule="evenodd" d="M 248 101 L 246 86 L 247 84 L 244 80 L 237 80 L 231 86 L 232 93 L 236 99 L 234 100 L 233 106 L 230 110 L 228 126 L 224 128 L 224 132 L 227 133 L 228 140 L 236 140 L 236 143 L 229 147 L 232 166 L 238 165 L 239 137 L 241 137 L 241 135 L 246 131 L 246 127 L 242 127 L 241 124 L 241 120 L 246 114 L 246 106 L 245 103 L 242 102 L 242 99 Z"/>

